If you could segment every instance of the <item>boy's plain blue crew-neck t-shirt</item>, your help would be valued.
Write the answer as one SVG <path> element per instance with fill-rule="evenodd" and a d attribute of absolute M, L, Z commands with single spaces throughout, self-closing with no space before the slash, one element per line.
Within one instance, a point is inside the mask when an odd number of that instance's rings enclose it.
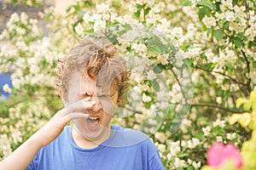
<path fill-rule="evenodd" d="M 38 151 L 26 170 L 163 170 L 160 155 L 144 133 L 112 125 L 111 136 L 93 149 L 74 144 L 71 127 Z"/>

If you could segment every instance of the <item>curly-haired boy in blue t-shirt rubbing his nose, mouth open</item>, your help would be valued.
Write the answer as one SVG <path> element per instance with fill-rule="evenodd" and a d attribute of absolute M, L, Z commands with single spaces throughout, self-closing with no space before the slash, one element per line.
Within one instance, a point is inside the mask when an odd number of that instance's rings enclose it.
<path fill-rule="evenodd" d="M 59 59 L 57 85 L 65 108 L 1 161 L 0 169 L 164 169 L 144 133 L 110 125 L 130 77 L 115 54 L 104 39 L 84 38 Z"/>

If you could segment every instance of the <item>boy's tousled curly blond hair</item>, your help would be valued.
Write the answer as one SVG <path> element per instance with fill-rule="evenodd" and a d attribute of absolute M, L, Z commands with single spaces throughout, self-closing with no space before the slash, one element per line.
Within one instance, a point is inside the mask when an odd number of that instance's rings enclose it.
<path fill-rule="evenodd" d="M 119 101 L 128 87 L 131 72 L 116 52 L 117 48 L 105 38 L 81 39 L 64 58 L 58 59 L 56 85 L 62 89 L 63 96 L 67 97 L 69 77 L 74 71 L 81 71 L 96 80 L 97 87 L 106 84 L 114 87 Z"/>

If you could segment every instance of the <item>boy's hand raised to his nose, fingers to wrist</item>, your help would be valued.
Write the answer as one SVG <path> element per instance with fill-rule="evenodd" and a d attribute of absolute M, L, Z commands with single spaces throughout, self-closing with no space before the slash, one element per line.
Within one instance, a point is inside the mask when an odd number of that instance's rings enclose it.
<path fill-rule="evenodd" d="M 40 128 L 37 133 L 32 135 L 32 138 L 38 141 L 40 147 L 49 144 L 52 140 L 57 138 L 62 132 L 63 128 L 73 119 L 86 118 L 88 114 L 78 112 L 90 109 L 96 105 L 95 101 L 90 101 L 90 97 L 81 99 L 71 105 L 67 105 L 61 111 L 58 111 L 44 127 Z"/>

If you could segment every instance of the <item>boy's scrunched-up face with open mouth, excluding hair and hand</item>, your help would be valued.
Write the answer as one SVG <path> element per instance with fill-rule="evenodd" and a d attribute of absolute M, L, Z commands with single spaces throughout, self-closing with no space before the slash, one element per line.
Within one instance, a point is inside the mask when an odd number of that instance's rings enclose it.
<path fill-rule="evenodd" d="M 90 97 L 90 101 L 96 101 L 96 105 L 90 110 L 76 111 L 87 113 L 89 118 L 75 119 L 73 123 L 86 139 L 96 141 L 104 138 L 105 133 L 108 132 L 113 111 L 117 107 L 118 93 L 114 89 L 97 88 L 95 80 L 90 79 L 88 75 L 82 76 L 79 71 L 76 71 L 69 80 L 66 105 L 87 97 Z"/>

